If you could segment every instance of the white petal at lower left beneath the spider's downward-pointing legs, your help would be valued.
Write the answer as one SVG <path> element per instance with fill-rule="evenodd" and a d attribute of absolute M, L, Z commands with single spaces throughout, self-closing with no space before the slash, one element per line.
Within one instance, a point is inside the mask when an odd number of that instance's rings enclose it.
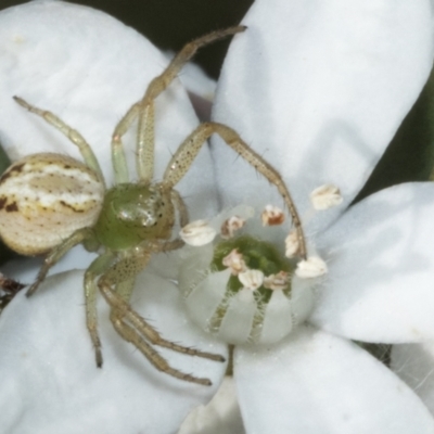
<path fill-rule="evenodd" d="M 82 272 L 56 275 L 31 298 L 23 292 L 3 311 L 0 432 L 165 434 L 216 392 L 225 363 L 157 348 L 173 367 L 208 378 L 214 385 L 161 373 L 116 334 L 106 303 L 100 302 L 102 369 L 95 367 L 85 326 Z M 190 326 L 171 283 L 141 275 L 131 304 L 163 336 L 226 357 L 224 345 Z"/>

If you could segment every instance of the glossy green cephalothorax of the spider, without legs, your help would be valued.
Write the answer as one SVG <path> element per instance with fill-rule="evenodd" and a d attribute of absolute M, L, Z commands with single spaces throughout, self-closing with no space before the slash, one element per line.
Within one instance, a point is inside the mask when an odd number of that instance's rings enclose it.
<path fill-rule="evenodd" d="M 162 184 L 122 183 L 106 192 L 94 233 L 102 245 L 119 251 L 169 239 L 174 224 L 170 194 Z"/>

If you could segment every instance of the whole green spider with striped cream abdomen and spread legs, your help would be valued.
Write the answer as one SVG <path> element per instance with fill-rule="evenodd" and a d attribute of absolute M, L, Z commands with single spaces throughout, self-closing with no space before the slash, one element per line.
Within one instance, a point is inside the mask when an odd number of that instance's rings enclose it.
<path fill-rule="evenodd" d="M 20 197 L 12 201 L 16 206 L 7 206 L 4 201 L 3 206 L 0 203 L 0 233 L 5 239 L 5 230 L 2 229 L 2 225 L 4 227 L 5 220 L 12 221 L 13 225 L 14 218 L 24 209 L 20 201 L 30 202 L 31 213 L 34 213 L 28 218 L 30 230 L 26 232 L 25 227 L 21 228 L 14 240 L 15 243 L 18 242 L 27 247 L 18 248 L 12 243 L 11 246 L 24 254 L 42 254 L 47 251 L 49 253 L 27 295 L 31 295 L 37 290 L 49 269 L 73 246 L 82 243 L 90 251 L 99 250 L 101 252 L 87 269 L 84 283 L 87 328 L 95 349 L 99 367 L 102 366 L 102 352 L 97 324 L 98 290 L 111 307 L 111 321 L 118 334 L 132 343 L 158 370 L 183 381 L 210 385 L 208 379 L 196 378 L 170 367 L 153 345 L 187 355 L 224 361 L 219 355 L 184 347 L 163 339 L 129 305 L 136 276 L 146 267 L 151 255 L 179 248 L 183 244 L 179 238 L 173 238 L 176 216 L 178 216 L 181 227 L 188 224 L 187 207 L 175 187 L 188 173 L 202 145 L 213 133 L 219 135 L 230 148 L 278 188 L 295 225 L 299 241 L 299 255 L 305 256 L 306 247 L 302 226 L 279 173 L 256 154 L 231 128 L 217 123 L 199 125 L 173 155 L 163 180 L 157 183 L 153 180 L 154 100 L 170 85 L 181 67 L 199 48 L 244 29 L 245 27 L 238 26 L 214 31 L 188 43 L 167 68 L 151 81 L 143 98 L 128 110 L 113 132 L 112 162 L 115 184 L 108 190 L 105 189 L 104 178 L 92 149 L 78 131 L 72 129 L 51 112 L 37 108 L 23 99 L 14 97 L 18 104 L 41 116 L 77 145 L 85 165 L 72 158 L 69 158 L 72 159 L 71 164 L 67 164 L 63 161 L 62 155 L 56 154 L 49 154 L 50 157 L 44 156 L 47 154 L 35 154 L 12 165 L 0 178 L 0 197 L 9 201 L 12 194 L 16 193 L 16 183 L 26 183 L 28 178 L 23 178 L 23 174 L 30 174 L 28 175 L 30 179 L 35 178 L 36 181 L 31 183 L 31 188 L 27 189 L 26 187 L 25 191 L 29 191 L 27 197 L 22 197 L 17 193 Z M 132 182 L 128 174 L 122 138 L 137 118 L 138 181 Z M 64 170 L 62 170 L 62 165 Z M 38 171 L 35 167 L 38 167 Z M 75 177 L 71 177 L 71 174 L 65 175 L 72 170 L 72 167 L 75 170 Z M 54 193 L 47 187 L 53 183 L 48 181 L 52 176 L 54 176 L 56 184 Z M 93 188 L 82 194 L 80 182 L 85 182 L 85 180 L 90 182 L 89 179 Z M 11 180 L 14 182 L 11 183 Z M 66 188 L 65 186 L 68 186 L 72 180 L 77 181 L 77 186 Z M 29 201 L 28 197 L 30 197 Z M 51 199 L 48 201 L 47 197 Z M 46 202 L 46 205 L 40 206 L 41 202 Z M 82 205 L 81 202 L 89 206 L 78 210 Z M 77 226 L 63 228 L 66 231 L 66 238 L 63 241 L 58 239 L 59 241 L 55 242 L 51 238 L 50 244 L 44 244 L 44 237 L 39 237 L 40 233 L 55 232 L 52 228 L 52 217 L 56 218 L 56 213 L 52 209 L 53 204 L 62 205 L 60 208 L 65 215 L 72 214 L 74 217 L 75 213 L 76 220 L 79 216 L 80 225 L 78 228 Z M 37 227 L 31 225 L 35 218 L 39 225 Z M 37 246 L 34 241 L 35 233 L 40 240 Z M 47 237 L 48 239 L 49 237 Z"/>

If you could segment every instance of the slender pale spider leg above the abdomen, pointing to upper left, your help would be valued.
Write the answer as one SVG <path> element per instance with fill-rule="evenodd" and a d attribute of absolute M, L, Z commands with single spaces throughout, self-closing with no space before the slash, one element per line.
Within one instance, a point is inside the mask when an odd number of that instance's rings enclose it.
<path fill-rule="evenodd" d="M 102 182 L 102 184 L 104 184 L 104 176 L 102 175 L 100 164 L 98 163 L 92 148 L 77 130 L 71 128 L 51 112 L 35 107 L 20 97 L 13 97 L 13 99 L 24 108 L 27 108 L 30 113 L 42 117 L 42 119 L 44 119 L 48 124 L 52 125 L 64 136 L 66 136 L 78 148 L 78 151 L 80 151 L 86 165 L 97 174 L 99 180 Z"/>

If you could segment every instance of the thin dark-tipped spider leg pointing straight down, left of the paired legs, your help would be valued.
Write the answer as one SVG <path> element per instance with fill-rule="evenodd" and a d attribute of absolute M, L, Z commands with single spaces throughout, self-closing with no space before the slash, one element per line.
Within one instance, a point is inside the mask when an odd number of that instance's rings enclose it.
<path fill-rule="evenodd" d="M 97 314 L 97 294 L 98 286 L 95 278 L 106 271 L 116 258 L 112 252 L 105 252 L 97 257 L 85 273 L 85 305 L 86 305 L 86 327 L 95 352 L 95 361 L 98 368 L 102 367 L 101 340 L 98 334 L 98 314 Z"/>

